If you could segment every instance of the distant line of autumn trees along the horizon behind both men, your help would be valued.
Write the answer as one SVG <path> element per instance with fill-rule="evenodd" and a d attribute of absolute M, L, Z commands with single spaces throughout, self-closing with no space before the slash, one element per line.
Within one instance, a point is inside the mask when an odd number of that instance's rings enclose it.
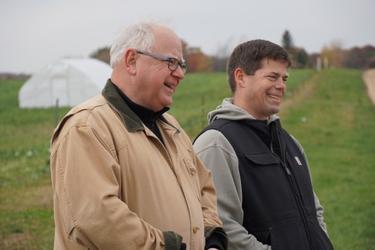
<path fill-rule="evenodd" d="M 320 54 L 308 54 L 303 47 L 294 44 L 291 33 L 286 30 L 281 37 L 281 46 L 293 57 L 293 68 L 316 68 L 318 60 L 325 67 L 331 68 L 375 68 L 375 47 L 372 45 L 343 50 L 339 42 L 334 42 L 323 47 Z M 189 73 L 226 71 L 228 56 L 219 53 L 207 56 L 200 47 L 189 47 L 183 40 L 182 47 L 184 58 L 189 64 Z M 110 64 L 110 47 L 101 47 L 90 54 L 90 57 Z"/>

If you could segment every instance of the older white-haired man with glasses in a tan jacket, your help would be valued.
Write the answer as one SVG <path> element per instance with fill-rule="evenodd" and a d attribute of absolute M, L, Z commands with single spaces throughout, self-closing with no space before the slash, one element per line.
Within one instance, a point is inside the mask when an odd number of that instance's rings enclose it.
<path fill-rule="evenodd" d="M 52 136 L 54 249 L 226 249 L 211 173 L 168 115 L 184 79 L 168 27 L 121 31 L 102 93 Z"/>

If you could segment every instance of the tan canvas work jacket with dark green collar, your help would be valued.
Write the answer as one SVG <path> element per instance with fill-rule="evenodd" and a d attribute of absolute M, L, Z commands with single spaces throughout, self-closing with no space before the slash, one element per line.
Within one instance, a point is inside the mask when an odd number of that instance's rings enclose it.
<path fill-rule="evenodd" d="M 222 230 L 212 175 L 170 115 L 143 126 L 108 81 L 52 136 L 54 249 L 204 249 Z M 206 232 L 205 232 L 206 231 Z M 181 235 L 181 236 L 179 236 Z"/>

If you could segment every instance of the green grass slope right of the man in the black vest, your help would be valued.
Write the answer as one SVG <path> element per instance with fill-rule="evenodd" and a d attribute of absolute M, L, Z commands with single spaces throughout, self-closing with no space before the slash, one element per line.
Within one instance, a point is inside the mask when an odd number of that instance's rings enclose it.
<path fill-rule="evenodd" d="M 375 108 L 360 77 L 314 75 L 309 94 L 283 113 L 309 157 L 335 249 L 375 249 Z"/>

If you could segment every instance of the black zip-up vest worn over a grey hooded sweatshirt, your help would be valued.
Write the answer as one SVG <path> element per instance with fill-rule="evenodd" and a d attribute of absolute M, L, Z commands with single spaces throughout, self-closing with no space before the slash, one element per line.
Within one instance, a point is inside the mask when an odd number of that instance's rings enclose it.
<path fill-rule="evenodd" d="M 333 249 L 318 223 L 307 163 L 279 119 L 270 126 L 218 119 L 201 133 L 209 129 L 223 133 L 237 154 L 249 234 L 272 249 Z"/>

